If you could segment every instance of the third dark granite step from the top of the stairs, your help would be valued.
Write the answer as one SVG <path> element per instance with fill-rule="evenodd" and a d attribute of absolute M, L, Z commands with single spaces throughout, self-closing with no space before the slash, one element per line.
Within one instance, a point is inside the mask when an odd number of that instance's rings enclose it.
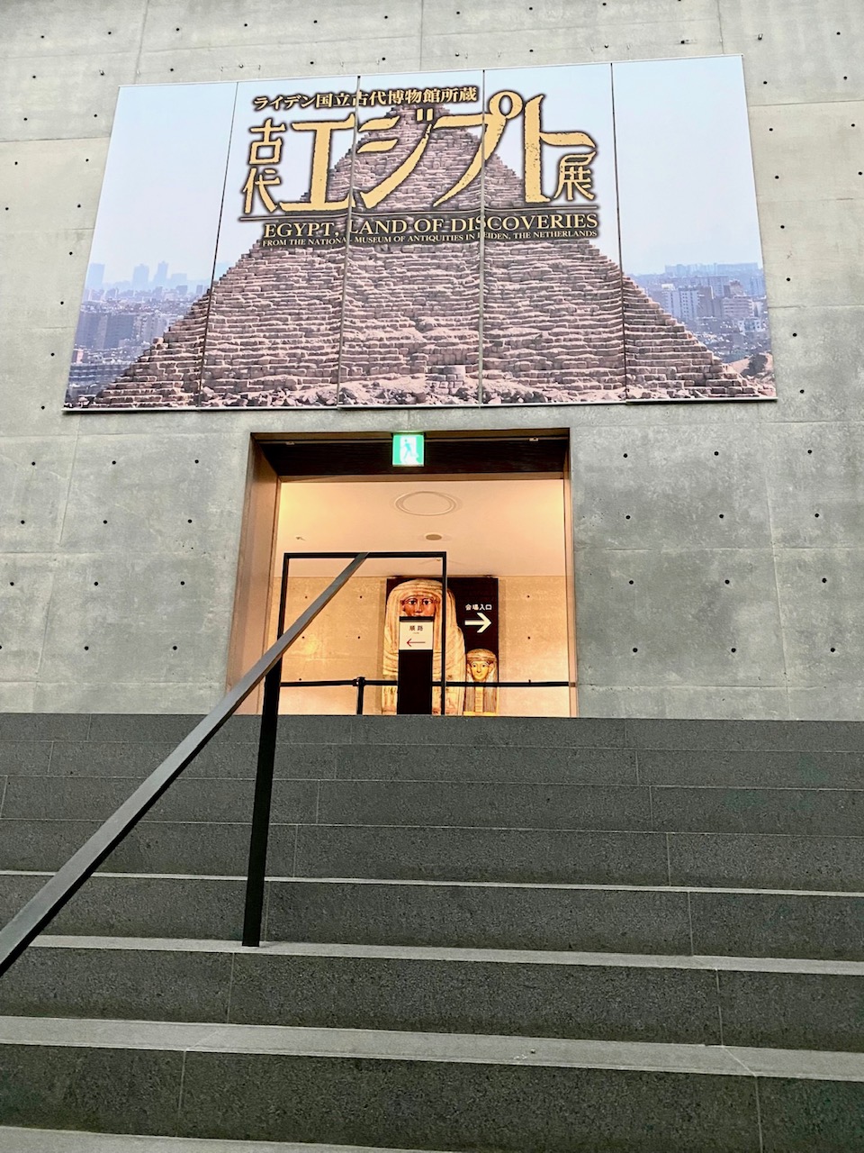
<path fill-rule="evenodd" d="M 139 778 L 9 776 L 3 783 L 3 820 L 104 821 Z M 244 822 L 252 791 L 251 778 L 181 778 L 142 824 Z M 858 836 L 864 789 L 280 779 L 272 819 L 304 826 Z"/>

